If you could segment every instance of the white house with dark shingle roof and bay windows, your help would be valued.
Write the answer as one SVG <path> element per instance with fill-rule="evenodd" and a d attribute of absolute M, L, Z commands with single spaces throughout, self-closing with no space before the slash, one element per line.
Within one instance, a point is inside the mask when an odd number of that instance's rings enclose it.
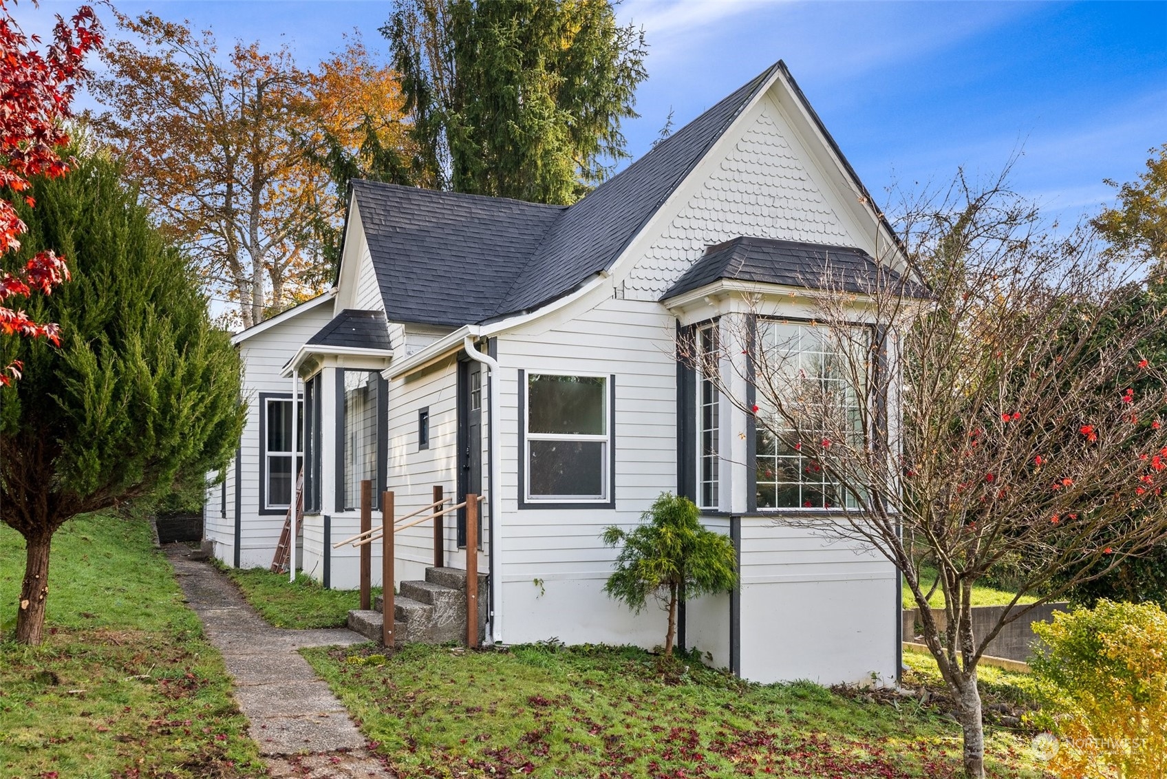
<path fill-rule="evenodd" d="M 741 573 L 685 604 L 684 646 L 759 681 L 895 679 L 894 568 L 784 522 L 838 521 L 831 486 L 797 467 L 777 482 L 753 416 L 677 357 L 678 338 L 732 342 L 734 317 L 797 336 L 815 258 L 866 273 L 894 245 L 781 62 L 571 207 L 355 182 L 335 287 L 236 336 L 250 416 L 207 536 L 226 563 L 271 563 L 302 439 L 306 573 L 356 585 L 357 552 L 331 542 L 358 529 L 362 479 L 398 516 L 434 486 L 483 494 L 491 640 L 651 647 L 664 615 L 605 596 L 600 533 L 678 492 Z M 724 352 L 736 375 L 748 355 Z M 397 583 L 420 578 L 431 528 L 396 543 Z"/>

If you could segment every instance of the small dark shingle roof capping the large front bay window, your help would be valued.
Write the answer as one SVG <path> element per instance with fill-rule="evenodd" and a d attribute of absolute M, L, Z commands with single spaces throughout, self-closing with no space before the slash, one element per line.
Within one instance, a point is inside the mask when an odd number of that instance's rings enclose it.
<path fill-rule="evenodd" d="M 809 288 L 822 288 L 829 283 L 832 288 L 841 287 L 847 292 L 869 292 L 876 284 L 899 283 L 900 276 L 887 267 L 881 270 L 861 249 L 740 237 L 710 246 L 662 300 L 718 279 Z"/>

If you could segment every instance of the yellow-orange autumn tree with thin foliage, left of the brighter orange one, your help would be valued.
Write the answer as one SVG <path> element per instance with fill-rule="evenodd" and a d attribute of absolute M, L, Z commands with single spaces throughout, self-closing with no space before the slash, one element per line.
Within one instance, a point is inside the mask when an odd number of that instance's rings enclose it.
<path fill-rule="evenodd" d="M 244 326 L 302 297 L 322 258 L 306 230 L 329 197 L 302 138 L 315 121 L 309 74 L 284 48 L 237 42 L 155 14 L 118 15 L 126 37 L 91 84 L 98 134 L 165 229 L 196 259 Z"/>

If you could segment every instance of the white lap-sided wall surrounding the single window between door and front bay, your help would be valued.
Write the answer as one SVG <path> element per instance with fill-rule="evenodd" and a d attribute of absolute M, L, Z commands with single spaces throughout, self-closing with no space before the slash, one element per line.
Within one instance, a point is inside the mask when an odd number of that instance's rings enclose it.
<path fill-rule="evenodd" d="M 608 299 L 550 329 L 536 322 L 499 336 L 508 644 L 557 637 L 651 647 L 664 640 L 665 617 L 655 604 L 635 615 L 602 592 L 616 550 L 600 534 L 609 524 L 634 527 L 657 495 L 677 488 L 673 322 L 657 304 Z M 615 509 L 518 510 L 519 369 L 615 375 Z"/>

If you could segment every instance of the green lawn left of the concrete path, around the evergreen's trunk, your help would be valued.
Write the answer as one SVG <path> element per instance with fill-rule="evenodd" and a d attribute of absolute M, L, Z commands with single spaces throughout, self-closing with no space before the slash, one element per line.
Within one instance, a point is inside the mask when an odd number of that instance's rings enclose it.
<path fill-rule="evenodd" d="M 0 775 L 266 775 L 147 524 L 84 516 L 57 531 L 35 648 L 11 641 L 23 569 L 23 540 L 0 526 Z"/>

